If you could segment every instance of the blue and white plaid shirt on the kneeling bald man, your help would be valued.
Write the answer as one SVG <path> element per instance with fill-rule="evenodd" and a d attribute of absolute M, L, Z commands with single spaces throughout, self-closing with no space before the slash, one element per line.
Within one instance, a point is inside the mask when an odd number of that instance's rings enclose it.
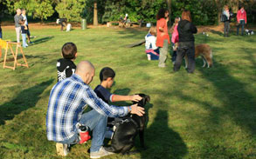
<path fill-rule="evenodd" d="M 46 115 L 48 140 L 61 142 L 74 136 L 86 104 L 104 116 L 118 117 L 128 114 L 128 107 L 104 103 L 80 76 L 73 74 L 56 83 L 51 90 Z"/>

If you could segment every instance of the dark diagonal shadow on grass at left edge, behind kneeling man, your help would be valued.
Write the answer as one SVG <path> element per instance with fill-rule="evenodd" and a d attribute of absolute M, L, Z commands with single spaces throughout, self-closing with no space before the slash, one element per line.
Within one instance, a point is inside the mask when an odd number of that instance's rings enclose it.
<path fill-rule="evenodd" d="M 6 120 L 13 119 L 26 109 L 35 107 L 36 103 L 40 99 L 42 92 L 53 82 L 53 79 L 44 83 L 39 83 L 29 89 L 21 91 L 14 99 L 8 103 L 0 105 L 0 125 L 5 124 Z"/>

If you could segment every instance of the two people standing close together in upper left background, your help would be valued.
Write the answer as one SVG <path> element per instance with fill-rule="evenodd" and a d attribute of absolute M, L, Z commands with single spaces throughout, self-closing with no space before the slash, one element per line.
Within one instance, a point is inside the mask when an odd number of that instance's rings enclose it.
<path fill-rule="evenodd" d="M 22 46 L 24 48 L 28 47 L 28 43 L 31 42 L 31 33 L 29 30 L 28 19 L 26 17 L 26 10 L 17 9 L 16 15 L 14 16 L 15 30 L 17 36 L 17 43 L 20 43 L 19 37 L 22 36 Z M 28 36 L 28 43 L 26 43 L 26 36 Z"/>

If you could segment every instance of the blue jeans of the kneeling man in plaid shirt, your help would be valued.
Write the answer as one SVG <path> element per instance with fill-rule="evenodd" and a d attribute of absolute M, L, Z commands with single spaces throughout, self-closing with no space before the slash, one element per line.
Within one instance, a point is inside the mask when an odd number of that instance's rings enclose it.
<path fill-rule="evenodd" d="M 93 139 L 90 151 L 99 151 L 105 138 L 107 129 L 107 116 L 100 115 L 100 113 L 93 109 L 81 116 L 80 123 L 93 130 Z M 78 142 L 79 135 L 76 134 L 69 140 L 63 141 L 61 143 L 75 144 Z"/>

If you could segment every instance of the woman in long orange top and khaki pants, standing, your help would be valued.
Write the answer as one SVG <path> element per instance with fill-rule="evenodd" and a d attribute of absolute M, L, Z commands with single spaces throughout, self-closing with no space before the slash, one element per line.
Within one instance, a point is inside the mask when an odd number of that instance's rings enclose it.
<path fill-rule="evenodd" d="M 156 46 L 160 48 L 160 56 L 158 67 L 166 67 L 165 61 L 168 54 L 168 44 L 170 43 L 170 36 L 168 34 L 168 21 L 169 11 L 166 9 L 160 9 L 156 15 Z"/>

